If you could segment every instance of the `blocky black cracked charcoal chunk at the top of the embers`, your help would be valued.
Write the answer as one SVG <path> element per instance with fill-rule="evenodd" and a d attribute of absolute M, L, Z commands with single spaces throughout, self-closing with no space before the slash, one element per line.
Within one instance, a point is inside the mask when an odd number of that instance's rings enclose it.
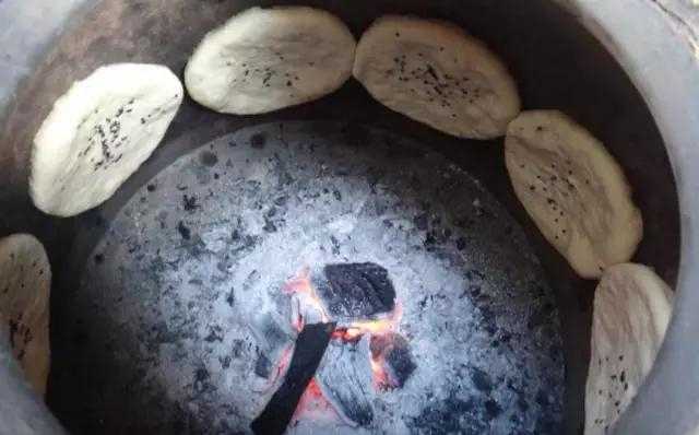
<path fill-rule="evenodd" d="M 395 307 L 395 289 L 379 264 L 328 264 L 323 273 L 316 287 L 333 317 L 366 319 Z"/>

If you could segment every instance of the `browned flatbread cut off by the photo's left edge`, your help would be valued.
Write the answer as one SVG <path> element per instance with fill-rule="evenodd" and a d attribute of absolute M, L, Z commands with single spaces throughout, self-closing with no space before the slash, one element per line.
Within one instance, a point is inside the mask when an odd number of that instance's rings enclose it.
<path fill-rule="evenodd" d="M 44 396 L 48 378 L 51 268 L 34 236 L 0 239 L 0 329 L 34 390 Z"/>

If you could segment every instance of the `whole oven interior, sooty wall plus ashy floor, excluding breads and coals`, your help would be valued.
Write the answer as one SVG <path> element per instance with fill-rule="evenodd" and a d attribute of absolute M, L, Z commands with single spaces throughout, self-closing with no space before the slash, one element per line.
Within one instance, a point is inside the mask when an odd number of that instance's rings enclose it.
<path fill-rule="evenodd" d="M 181 77 L 209 30 L 245 8 L 286 3 L 94 2 L 19 90 L 1 133 L 15 166 L 2 168 L 10 188 L 0 234 L 34 233 L 51 259 L 51 411 L 72 433 L 235 432 L 245 414 L 235 396 L 245 391 L 226 371 L 256 371 L 262 357 L 261 371 L 273 372 L 282 357 L 274 340 L 259 339 L 264 316 L 252 315 L 288 309 L 269 289 L 304 267 L 370 261 L 392 275 L 414 341 L 414 379 L 423 381 L 390 399 L 372 396 L 377 420 L 403 415 L 408 430 L 433 433 L 581 431 L 595 282 L 577 278 L 528 217 L 501 138 L 441 134 L 374 102 L 353 80 L 260 116 L 216 114 L 186 97 L 153 156 L 105 204 L 64 220 L 31 205 L 29 144 L 72 81 L 121 61 L 163 63 Z M 381 14 L 401 13 L 449 20 L 486 42 L 516 78 L 524 109 L 567 113 L 618 160 L 644 221 L 633 260 L 675 284 L 678 205 L 663 140 L 625 71 L 573 16 L 544 0 L 304 4 L 335 13 L 357 37 Z M 265 290 L 271 296 L 256 299 Z M 236 330 L 248 325 L 257 325 L 249 337 Z M 441 333 L 453 348 L 425 348 Z M 240 350 L 252 342 L 269 349 Z M 429 352 L 439 354 L 434 363 L 423 357 Z M 250 355 L 254 362 L 242 362 Z M 500 364 L 520 355 L 521 364 Z M 447 384 L 459 387 L 435 387 Z M 518 405 L 518 395 L 531 396 L 533 408 Z M 549 403 L 558 396 L 560 407 Z M 344 413 L 357 423 L 360 411 Z"/>

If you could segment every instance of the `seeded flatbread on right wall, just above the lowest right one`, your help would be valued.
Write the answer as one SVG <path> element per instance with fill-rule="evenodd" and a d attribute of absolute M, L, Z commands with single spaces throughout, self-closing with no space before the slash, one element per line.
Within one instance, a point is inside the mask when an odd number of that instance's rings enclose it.
<path fill-rule="evenodd" d="M 517 197 L 583 278 L 628 261 L 643 236 L 620 166 L 602 142 L 557 110 L 523 111 L 505 140 Z"/>

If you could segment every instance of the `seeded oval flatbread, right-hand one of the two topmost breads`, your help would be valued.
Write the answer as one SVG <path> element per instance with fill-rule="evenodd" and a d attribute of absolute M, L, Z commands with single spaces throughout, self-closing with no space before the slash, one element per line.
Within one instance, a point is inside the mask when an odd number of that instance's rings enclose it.
<path fill-rule="evenodd" d="M 359 39 L 353 73 L 383 105 L 460 138 L 500 137 L 520 111 L 502 62 L 448 22 L 378 19 Z"/>

